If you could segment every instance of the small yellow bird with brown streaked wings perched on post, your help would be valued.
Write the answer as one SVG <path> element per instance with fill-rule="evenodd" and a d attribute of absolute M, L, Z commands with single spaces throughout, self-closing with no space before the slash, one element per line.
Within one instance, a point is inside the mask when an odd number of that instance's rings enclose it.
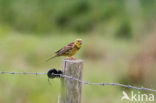
<path fill-rule="evenodd" d="M 55 55 L 49 58 L 47 61 L 58 56 L 66 56 L 69 59 L 74 59 L 72 56 L 81 48 L 81 46 L 82 39 L 76 39 L 74 42 L 71 42 L 60 50 L 56 51 Z"/>

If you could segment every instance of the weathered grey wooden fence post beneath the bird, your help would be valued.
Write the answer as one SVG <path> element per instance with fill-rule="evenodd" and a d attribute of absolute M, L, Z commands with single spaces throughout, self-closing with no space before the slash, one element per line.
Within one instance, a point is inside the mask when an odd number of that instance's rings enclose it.
<path fill-rule="evenodd" d="M 82 78 L 82 60 L 63 60 L 63 74 L 74 78 Z M 61 94 L 58 103 L 81 103 L 81 83 L 68 78 L 61 79 Z"/>

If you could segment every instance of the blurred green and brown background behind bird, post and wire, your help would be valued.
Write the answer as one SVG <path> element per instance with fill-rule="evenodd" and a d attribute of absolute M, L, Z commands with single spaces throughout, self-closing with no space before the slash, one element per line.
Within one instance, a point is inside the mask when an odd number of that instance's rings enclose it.
<path fill-rule="evenodd" d="M 61 69 L 64 57 L 46 59 L 82 38 L 75 57 L 84 60 L 83 80 L 156 89 L 155 5 L 155 0 L 0 0 L 0 70 Z M 0 103 L 57 103 L 60 80 L 51 84 L 46 76 L 0 75 Z M 132 91 L 83 85 L 82 103 L 121 103 L 123 90 Z"/>

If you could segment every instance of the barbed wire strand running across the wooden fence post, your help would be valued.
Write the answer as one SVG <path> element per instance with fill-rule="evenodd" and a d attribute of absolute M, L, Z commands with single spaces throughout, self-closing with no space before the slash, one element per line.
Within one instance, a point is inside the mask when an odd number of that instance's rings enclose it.
<path fill-rule="evenodd" d="M 6 72 L 6 71 L 0 71 L 0 74 L 48 75 L 48 73 L 38 73 L 38 72 Z M 51 76 L 53 76 L 52 78 L 54 78 L 54 76 L 55 77 L 61 77 L 61 78 L 67 78 L 69 80 L 78 81 L 79 83 L 85 84 L 85 85 L 120 86 L 120 87 L 125 87 L 125 88 L 132 88 L 132 89 L 137 89 L 137 90 L 147 90 L 147 91 L 156 92 L 156 90 L 150 89 L 150 88 L 145 88 L 144 86 L 135 87 L 135 86 L 132 86 L 132 85 L 125 85 L 125 84 L 121 84 L 121 83 L 105 83 L 105 82 L 91 83 L 91 82 L 82 81 L 80 79 L 74 78 L 72 76 L 64 75 L 64 74 L 54 74 L 54 73 L 52 73 Z M 49 75 L 48 75 L 48 77 L 49 77 Z"/>

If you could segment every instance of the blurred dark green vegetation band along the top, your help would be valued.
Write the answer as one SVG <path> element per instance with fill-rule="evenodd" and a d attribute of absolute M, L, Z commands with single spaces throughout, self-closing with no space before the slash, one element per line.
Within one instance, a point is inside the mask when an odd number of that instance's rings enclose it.
<path fill-rule="evenodd" d="M 110 28 L 114 35 L 129 38 L 136 33 L 136 21 L 148 28 L 147 21 L 156 17 L 155 5 L 155 0 L 0 0 L 0 28 L 40 35 Z"/>

